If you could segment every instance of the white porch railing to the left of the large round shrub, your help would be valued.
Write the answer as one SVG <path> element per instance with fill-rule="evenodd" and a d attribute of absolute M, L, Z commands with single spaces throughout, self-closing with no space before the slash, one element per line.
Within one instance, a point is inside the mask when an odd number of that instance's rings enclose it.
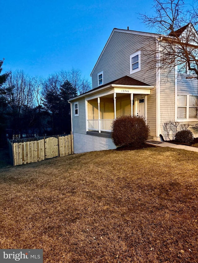
<path fill-rule="evenodd" d="M 87 120 L 88 129 L 100 131 L 111 131 L 113 119 Z M 99 130 L 100 127 L 100 130 Z"/>

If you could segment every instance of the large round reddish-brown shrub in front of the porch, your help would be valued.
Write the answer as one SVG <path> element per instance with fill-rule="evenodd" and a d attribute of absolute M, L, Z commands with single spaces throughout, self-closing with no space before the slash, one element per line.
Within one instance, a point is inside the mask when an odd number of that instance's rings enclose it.
<path fill-rule="evenodd" d="M 116 146 L 140 146 L 149 137 L 149 126 L 144 117 L 121 116 L 112 124 L 112 139 Z"/>

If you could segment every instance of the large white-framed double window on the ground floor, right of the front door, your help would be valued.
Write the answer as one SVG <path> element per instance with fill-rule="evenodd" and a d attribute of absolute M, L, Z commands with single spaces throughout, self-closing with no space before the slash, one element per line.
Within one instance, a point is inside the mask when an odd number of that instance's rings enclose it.
<path fill-rule="evenodd" d="M 197 96 L 177 95 L 177 118 L 178 119 L 197 118 Z"/>

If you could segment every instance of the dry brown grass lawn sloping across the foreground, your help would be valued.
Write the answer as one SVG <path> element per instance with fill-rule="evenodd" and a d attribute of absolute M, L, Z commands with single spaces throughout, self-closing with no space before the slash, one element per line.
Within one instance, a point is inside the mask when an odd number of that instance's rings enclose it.
<path fill-rule="evenodd" d="M 44 262 L 198 262 L 198 154 L 74 154 L 0 170 L 1 249 Z"/>

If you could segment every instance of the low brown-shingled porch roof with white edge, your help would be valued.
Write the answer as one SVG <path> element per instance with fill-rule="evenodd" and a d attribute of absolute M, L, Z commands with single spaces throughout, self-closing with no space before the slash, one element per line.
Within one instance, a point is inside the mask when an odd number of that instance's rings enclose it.
<path fill-rule="evenodd" d="M 150 87 L 150 88 L 153 88 L 153 86 L 151 86 L 151 85 L 149 85 L 147 83 L 144 83 L 144 82 L 142 82 L 140 80 L 136 80 L 136 79 L 131 78 L 129 76 L 124 76 L 124 77 L 119 78 L 117 80 L 113 80 L 113 81 L 110 81 L 110 82 L 108 82 L 106 84 L 103 84 L 103 85 L 101 85 L 101 86 L 99 86 L 97 88 L 93 88 L 93 89 L 91 89 L 91 90 L 89 90 L 87 92 L 84 92 L 83 94 L 81 94 L 81 95 L 79 95 L 79 96 L 77 96 L 75 98 L 72 98 L 72 99 L 70 99 L 68 101 L 73 101 L 76 98 L 84 97 L 86 94 L 88 95 L 89 93 L 93 93 L 94 91 L 97 91 L 97 90 L 105 89 L 107 87 L 109 88 L 109 87 L 119 86 L 119 85 L 120 86 L 130 86 L 130 87 L 134 86 L 134 87 L 148 87 L 148 88 Z"/>

